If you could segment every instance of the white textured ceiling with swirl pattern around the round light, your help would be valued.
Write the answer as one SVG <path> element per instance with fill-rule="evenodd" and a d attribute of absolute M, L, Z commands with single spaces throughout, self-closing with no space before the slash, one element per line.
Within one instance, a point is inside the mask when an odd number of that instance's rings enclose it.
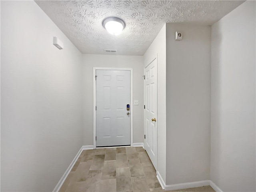
<path fill-rule="evenodd" d="M 82 52 L 89 54 L 143 55 L 164 23 L 212 25 L 244 1 L 81 0 L 36 3 Z M 114 36 L 102 20 L 115 16 L 126 23 Z M 106 53 L 104 49 L 117 50 Z"/>

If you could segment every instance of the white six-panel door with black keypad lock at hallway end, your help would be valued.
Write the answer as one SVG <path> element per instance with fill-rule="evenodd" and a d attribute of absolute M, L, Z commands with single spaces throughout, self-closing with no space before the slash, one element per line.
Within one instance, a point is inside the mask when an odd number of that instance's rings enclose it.
<path fill-rule="evenodd" d="M 130 145 L 130 71 L 96 70 L 96 146 Z"/>

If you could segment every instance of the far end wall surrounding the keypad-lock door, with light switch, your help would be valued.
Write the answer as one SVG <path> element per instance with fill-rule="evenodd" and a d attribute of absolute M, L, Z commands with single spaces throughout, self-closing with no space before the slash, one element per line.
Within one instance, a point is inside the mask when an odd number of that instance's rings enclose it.
<path fill-rule="evenodd" d="M 143 56 L 83 54 L 84 75 L 84 145 L 93 145 L 93 68 L 133 68 L 133 142 L 144 140 L 143 129 Z"/>

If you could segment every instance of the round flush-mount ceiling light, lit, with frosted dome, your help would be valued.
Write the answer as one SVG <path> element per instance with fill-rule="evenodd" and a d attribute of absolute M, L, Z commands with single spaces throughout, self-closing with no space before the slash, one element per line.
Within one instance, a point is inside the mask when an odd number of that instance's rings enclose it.
<path fill-rule="evenodd" d="M 125 28 L 124 21 L 116 17 L 104 19 L 102 25 L 112 35 L 119 35 Z"/>

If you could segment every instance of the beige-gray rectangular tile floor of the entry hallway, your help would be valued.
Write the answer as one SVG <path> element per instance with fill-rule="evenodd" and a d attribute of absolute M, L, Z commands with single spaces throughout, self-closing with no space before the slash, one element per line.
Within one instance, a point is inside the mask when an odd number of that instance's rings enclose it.
<path fill-rule="evenodd" d="M 60 189 L 60 192 L 140 191 L 163 191 L 142 147 L 84 150 Z M 195 188 L 191 191 L 196 192 Z M 214 192 L 212 188 L 198 191 Z"/>

